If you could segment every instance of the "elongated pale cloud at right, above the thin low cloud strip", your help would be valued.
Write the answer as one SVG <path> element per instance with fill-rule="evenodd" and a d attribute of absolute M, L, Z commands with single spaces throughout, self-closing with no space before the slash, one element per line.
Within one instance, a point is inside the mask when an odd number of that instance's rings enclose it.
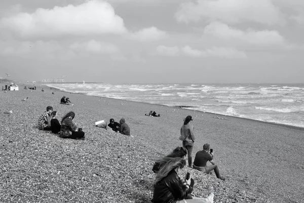
<path fill-rule="evenodd" d="M 284 38 L 278 31 L 247 29 L 242 31 L 221 22 L 212 22 L 204 29 L 204 34 L 224 40 L 238 40 L 253 45 L 282 45 Z"/>

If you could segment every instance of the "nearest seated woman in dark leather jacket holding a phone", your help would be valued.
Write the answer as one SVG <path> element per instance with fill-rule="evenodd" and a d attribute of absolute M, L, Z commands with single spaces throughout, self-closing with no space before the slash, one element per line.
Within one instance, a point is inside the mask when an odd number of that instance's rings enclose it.
<path fill-rule="evenodd" d="M 198 198 L 188 195 L 191 193 L 193 186 L 191 185 L 191 176 L 182 181 L 178 174 L 186 165 L 183 158 L 175 157 L 170 159 L 157 173 L 156 180 L 154 181 L 153 199 L 154 203 L 164 202 L 203 202 L 213 203 L 214 194 L 211 193 L 207 198 Z M 188 199 L 192 198 L 192 199 Z M 184 199 L 187 199 L 186 201 Z"/>

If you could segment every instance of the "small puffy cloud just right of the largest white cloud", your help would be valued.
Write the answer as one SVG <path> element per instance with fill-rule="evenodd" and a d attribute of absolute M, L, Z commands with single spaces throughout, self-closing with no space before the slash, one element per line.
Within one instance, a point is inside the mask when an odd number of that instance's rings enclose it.
<path fill-rule="evenodd" d="M 157 27 L 143 28 L 137 32 L 131 33 L 131 38 L 141 42 L 157 41 L 166 37 L 166 32 L 158 29 Z"/>

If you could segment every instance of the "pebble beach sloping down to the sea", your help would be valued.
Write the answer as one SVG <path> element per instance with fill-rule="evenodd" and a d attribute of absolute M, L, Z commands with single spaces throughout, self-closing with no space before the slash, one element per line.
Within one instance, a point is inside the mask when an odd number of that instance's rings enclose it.
<path fill-rule="evenodd" d="M 149 202 L 153 163 L 181 146 L 187 115 L 195 126 L 193 158 L 209 143 L 226 178 L 185 167 L 197 197 L 213 192 L 214 202 L 304 202 L 303 128 L 18 85 L 19 91 L 0 92 L 0 202 Z M 60 104 L 63 95 L 73 106 Z M 47 106 L 59 121 L 73 111 L 86 139 L 37 129 Z M 144 115 L 151 110 L 161 117 Z M 110 118 L 125 118 L 132 137 L 94 126 Z"/>

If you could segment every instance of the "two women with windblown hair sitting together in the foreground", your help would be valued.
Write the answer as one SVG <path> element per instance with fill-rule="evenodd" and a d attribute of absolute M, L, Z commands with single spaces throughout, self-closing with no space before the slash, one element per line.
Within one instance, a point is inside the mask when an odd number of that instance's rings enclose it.
<path fill-rule="evenodd" d="M 191 174 L 187 173 L 184 179 L 180 179 L 179 175 L 186 165 L 186 154 L 187 150 L 184 147 L 177 147 L 172 153 L 155 162 L 152 170 L 157 175 L 154 181 L 152 202 L 213 203 L 213 193 L 207 198 L 198 198 L 193 195 L 194 180 Z"/>

